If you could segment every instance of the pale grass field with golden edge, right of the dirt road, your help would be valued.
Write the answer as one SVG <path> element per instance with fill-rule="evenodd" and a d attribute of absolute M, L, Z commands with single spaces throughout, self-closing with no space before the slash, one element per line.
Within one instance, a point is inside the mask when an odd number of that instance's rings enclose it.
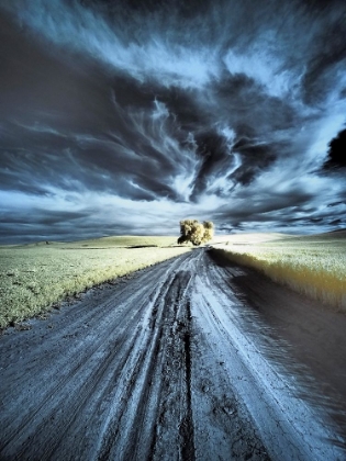
<path fill-rule="evenodd" d="M 228 236 L 214 245 L 231 261 L 257 269 L 277 283 L 346 312 L 346 232 L 292 237 Z"/>

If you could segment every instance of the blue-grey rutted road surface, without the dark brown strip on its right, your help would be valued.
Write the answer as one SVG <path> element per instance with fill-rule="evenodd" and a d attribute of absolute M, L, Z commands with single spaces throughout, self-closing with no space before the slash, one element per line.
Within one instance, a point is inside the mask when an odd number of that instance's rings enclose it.
<path fill-rule="evenodd" d="M 308 459 L 231 276 L 193 250 L 0 338 L 0 459 Z"/>

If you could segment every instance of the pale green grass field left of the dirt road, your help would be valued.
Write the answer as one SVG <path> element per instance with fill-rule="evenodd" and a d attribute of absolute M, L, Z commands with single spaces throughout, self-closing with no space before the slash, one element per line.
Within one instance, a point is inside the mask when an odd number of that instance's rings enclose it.
<path fill-rule="evenodd" d="M 189 247 L 176 237 L 104 237 L 0 247 L 0 328 L 48 311 L 96 284 L 155 265 Z"/>

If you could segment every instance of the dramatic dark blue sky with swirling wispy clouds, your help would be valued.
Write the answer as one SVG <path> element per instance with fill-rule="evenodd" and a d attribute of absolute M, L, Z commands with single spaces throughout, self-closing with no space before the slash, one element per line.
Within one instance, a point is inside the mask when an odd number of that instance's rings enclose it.
<path fill-rule="evenodd" d="M 0 243 L 346 227 L 345 37 L 344 0 L 0 0 Z"/>

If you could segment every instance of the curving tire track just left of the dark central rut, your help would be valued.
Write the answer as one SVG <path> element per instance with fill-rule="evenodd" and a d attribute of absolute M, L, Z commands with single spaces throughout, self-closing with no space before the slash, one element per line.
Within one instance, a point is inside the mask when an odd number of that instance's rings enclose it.
<path fill-rule="evenodd" d="M 166 348 L 163 338 L 165 339 L 167 324 L 169 325 L 171 322 L 170 301 L 177 280 L 179 280 L 177 276 L 172 282 L 167 280 L 157 294 L 148 318 L 148 334 L 141 346 L 141 357 L 133 368 L 130 385 L 123 394 L 123 408 L 120 414 L 113 415 L 112 421 L 109 424 L 108 434 L 102 440 L 100 460 L 112 459 L 115 457 L 114 451 L 121 451 L 122 459 L 130 459 L 130 457 L 147 459 L 146 451 L 153 451 L 150 437 L 154 438 L 154 436 L 150 435 L 156 420 L 157 401 L 160 396 L 158 376 L 163 370 Z M 177 295 L 180 296 L 180 292 Z M 165 308 L 166 305 L 167 310 Z M 133 402 L 131 402 L 131 398 Z M 153 407 L 152 401 L 155 401 L 154 413 L 148 418 L 147 412 L 148 408 Z M 131 405 L 129 405 L 129 402 L 131 402 Z M 136 408 L 135 414 L 132 412 L 133 407 Z M 145 425 L 146 417 L 150 419 L 147 425 Z M 125 424 L 122 423 L 123 420 L 125 420 Z M 125 437 L 124 431 L 126 432 Z"/>

